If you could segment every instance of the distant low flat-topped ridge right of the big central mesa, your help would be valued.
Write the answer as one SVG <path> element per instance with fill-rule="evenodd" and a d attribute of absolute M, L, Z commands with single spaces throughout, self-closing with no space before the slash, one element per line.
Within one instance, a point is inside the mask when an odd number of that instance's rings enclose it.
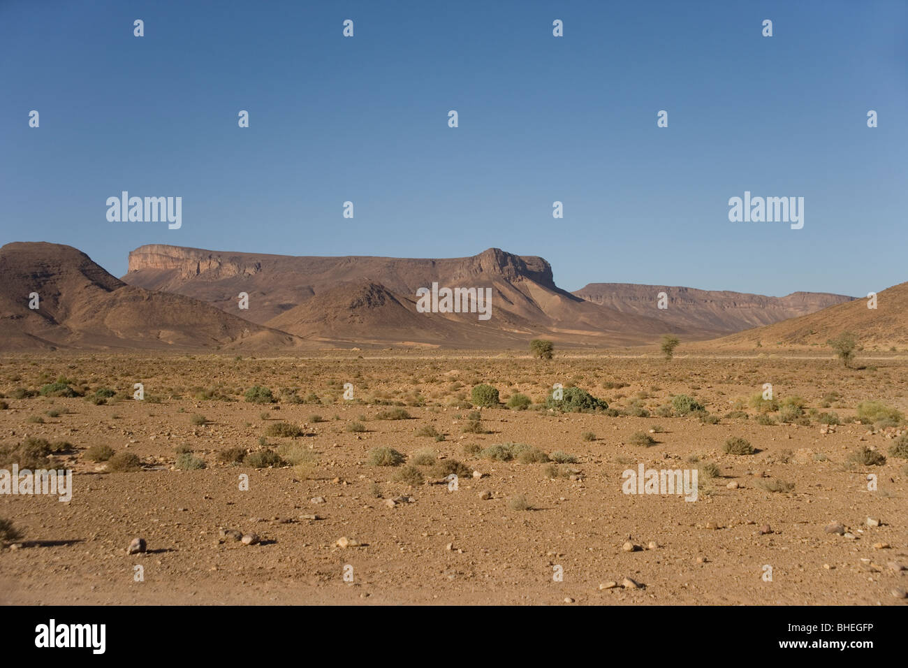
<path fill-rule="evenodd" d="M 661 292 L 668 295 L 666 309 L 657 307 Z M 767 297 L 762 294 L 627 283 L 591 283 L 574 294 L 621 313 L 647 315 L 684 330 L 701 329 L 716 334 L 778 323 L 852 299 L 843 294 L 792 293 L 785 297 Z"/>

